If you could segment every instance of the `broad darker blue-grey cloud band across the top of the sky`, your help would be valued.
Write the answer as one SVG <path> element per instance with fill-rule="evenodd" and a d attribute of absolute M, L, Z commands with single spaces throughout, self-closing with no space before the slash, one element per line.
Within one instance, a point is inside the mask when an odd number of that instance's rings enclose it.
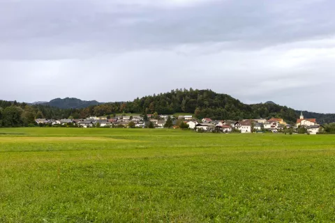
<path fill-rule="evenodd" d="M 101 0 L 4 1 L 0 58 L 82 58 L 198 43 L 260 49 L 334 34 L 329 10 L 334 6 L 333 1 L 286 0 L 214 1 L 189 8 Z"/>

